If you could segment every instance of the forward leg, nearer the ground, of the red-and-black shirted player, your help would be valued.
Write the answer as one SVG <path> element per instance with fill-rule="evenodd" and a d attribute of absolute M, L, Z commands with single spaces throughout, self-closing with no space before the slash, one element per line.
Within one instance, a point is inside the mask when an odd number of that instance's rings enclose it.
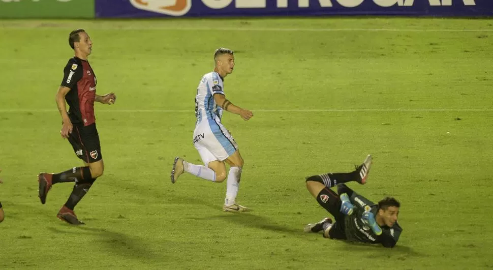
<path fill-rule="evenodd" d="M 81 181 L 76 181 L 67 202 L 57 214 L 59 219 L 75 225 L 83 224 L 78 220 L 74 213 L 75 206 L 82 200 L 85 194 L 87 194 L 96 179 L 103 175 L 104 172 L 104 161 L 95 124 L 84 127 L 84 131 L 81 134 L 81 141 L 82 146 L 84 147 L 83 151 L 86 153 L 86 155 L 82 156 L 82 160 L 84 165 L 86 165 L 84 168 L 89 168 L 89 177 L 88 179 L 84 178 Z"/>

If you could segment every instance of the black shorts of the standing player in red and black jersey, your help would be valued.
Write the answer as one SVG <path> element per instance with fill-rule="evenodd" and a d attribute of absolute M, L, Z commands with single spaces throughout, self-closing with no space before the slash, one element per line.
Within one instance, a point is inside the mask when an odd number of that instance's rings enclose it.
<path fill-rule="evenodd" d="M 74 148 L 75 155 L 85 163 L 93 163 L 101 160 L 101 144 L 96 123 L 89 126 L 75 126 L 69 134 L 69 142 Z"/>

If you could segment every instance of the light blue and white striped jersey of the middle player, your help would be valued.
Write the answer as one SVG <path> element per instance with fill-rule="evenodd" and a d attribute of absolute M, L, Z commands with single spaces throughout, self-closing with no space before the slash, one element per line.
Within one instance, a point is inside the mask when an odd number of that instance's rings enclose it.
<path fill-rule="evenodd" d="M 197 96 L 195 96 L 195 117 L 197 123 L 206 119 L 219 119 L 223 116 L 223 108 L 215 103 L 213 95 L 223 94 L 223 80 L 217 72 L 205 74 L 200 80 L 197 87 Z"/>

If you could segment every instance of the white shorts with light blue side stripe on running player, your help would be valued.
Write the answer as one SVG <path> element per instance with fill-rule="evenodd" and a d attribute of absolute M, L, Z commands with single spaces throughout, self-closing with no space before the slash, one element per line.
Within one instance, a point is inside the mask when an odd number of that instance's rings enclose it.
<path fill-rule="evenodd" d="M 206 167 L 211 161 L 227 159 L 238 149 L 233 136 L 219 119 L 202 118 L 195 126 L 193 142 Z"/>

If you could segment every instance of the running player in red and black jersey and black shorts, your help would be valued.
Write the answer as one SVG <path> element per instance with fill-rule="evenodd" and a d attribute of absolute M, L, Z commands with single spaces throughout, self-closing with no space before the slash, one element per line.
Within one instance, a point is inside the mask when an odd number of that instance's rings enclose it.
<path fill-rule="evenodd" d="M 60 130 L 62 138 L 67 138 L 74 152 L 84 166 L 74 167 L 60 173 L 40 173 L 39 198 L 46 202 L 46 195 L 52 185 L 75 182 L 69 199 L 57 214 L 57 217 L 70 224 L 83 224 L 74 213 L 74 207 L 94 184 L 96 178 L 103 175 L 104 162 L 101 153 L 94 102 L 113 104 L 114 93 L 99 96 L 96 94 L 96 75 L 89 65 L 87 57 L 93 50 L 93 42 L 83 29 L 76 29 L 69 35 L 69 45 L 75 56 L 69 59 L 64 69 L 64 78 L 56 93 L 56 104 L 63 120 Z M 69 104 L 67 112 L 66 102 Z"/>

